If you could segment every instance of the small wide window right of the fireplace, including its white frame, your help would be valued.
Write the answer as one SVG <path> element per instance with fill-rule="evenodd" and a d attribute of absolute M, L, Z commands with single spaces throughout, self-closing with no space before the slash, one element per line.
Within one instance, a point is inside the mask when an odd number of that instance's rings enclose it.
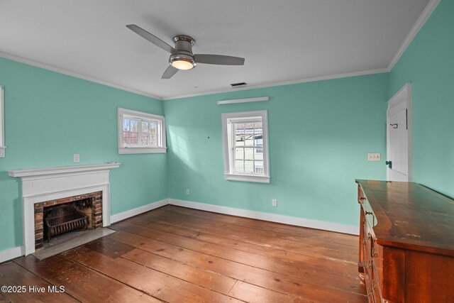
<path fill-rule="evenodd" d="M 118 107 L 118 153 L 165 153 L 163 116 Z"/>

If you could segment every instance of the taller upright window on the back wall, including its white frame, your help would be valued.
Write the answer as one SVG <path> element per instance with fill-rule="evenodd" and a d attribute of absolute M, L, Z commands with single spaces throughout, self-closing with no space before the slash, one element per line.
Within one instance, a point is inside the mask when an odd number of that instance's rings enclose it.
<path fill-rule="evenodd" d="M 267 111 L 222 114 L 227 180 L 270 183 Z"/>

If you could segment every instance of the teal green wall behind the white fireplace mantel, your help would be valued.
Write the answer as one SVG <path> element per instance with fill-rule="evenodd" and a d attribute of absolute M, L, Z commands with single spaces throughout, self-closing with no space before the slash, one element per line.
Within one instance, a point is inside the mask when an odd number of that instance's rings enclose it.
<path fill-rule="evenodd" d="M 118 155 L 116 108 L 164 114 L 162 101 L 0 58 L 6 158 L 0 158 L 0 250 L 22 245 L 21 182 L 6 170 L 121 162 L 111 214 L 167 198 L 166 155 Z"/>

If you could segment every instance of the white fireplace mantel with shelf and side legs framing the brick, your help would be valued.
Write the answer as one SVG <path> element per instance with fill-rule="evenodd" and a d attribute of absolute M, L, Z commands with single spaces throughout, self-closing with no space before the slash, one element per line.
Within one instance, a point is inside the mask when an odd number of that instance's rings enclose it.
<path fill-rule="evenodd" d="M 110 225 L 109 172 L 121 163 L 74 165 L 29 170 L 9 170 L 22 180 L 23 246 L 25 254 L 35 252 L 34 204 L 65 197 L 102 192 L 103 226 Z"/>

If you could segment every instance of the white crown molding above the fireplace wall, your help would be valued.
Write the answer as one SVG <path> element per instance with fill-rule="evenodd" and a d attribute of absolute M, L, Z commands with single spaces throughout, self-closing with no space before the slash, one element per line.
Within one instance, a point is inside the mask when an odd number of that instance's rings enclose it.
<path fill-rule="evenodd" d="M 76 77 L 76 78 L 79 78 L 79 79 L 87 80 L 89 82 L 94 82 L 94 83 L 97 83 L 97 84 L 106 85 L 107 87 L 114 87 L 115 89 L 121 89 L 121 90 L 126 91 L 126 92 L 132 92 L 134 94 L 140 94 L 140 95 L 145 96 L 145 97 L 150 97 L 150 98 L 153 98 L 153 99 L 162 100 L 162 97 L 155 96 L 154 94 L 149 94 L 148 92 L 142 92 L 142 91 L 139 91 L 139 90 L 136 90 L 136 89 L 131 89 L 129 87 L 123 87 L 122 85 L 106 82 L 106 81 L 103 81 L 103 80 L 100 80 L 100 79 L 89 77 L 87 75 L 79 74 L 77 72 L 72 72 L 70 70 L 65 70 L 65 69 L 63 69 L 61 67 L 55 67 L 53 65 L 48 65 L 48 64 L 43 63 L 43 62 L 38 62 L 38 61 L 35 61 L 35 60 L 26 59 L 24 57 L 20 57 L 20 56 L 17 56 L 17 55 L 12 55 L 10 53 L 4 53 L 4 52 L 0 51 L 0 57 L 4 57 L 5 59 L 13 60 L 13 61 L 16 61 L 16 62 L 25 63 L 27 65 L 40 67 L 40 68 L 43 68 L 45 70 L 51 70 L 52 72 L 58 72 L 58 73 L 63 74 L 63 75 L 67 75 L 67 76 L 71 76 L 71 77 Z"/>

